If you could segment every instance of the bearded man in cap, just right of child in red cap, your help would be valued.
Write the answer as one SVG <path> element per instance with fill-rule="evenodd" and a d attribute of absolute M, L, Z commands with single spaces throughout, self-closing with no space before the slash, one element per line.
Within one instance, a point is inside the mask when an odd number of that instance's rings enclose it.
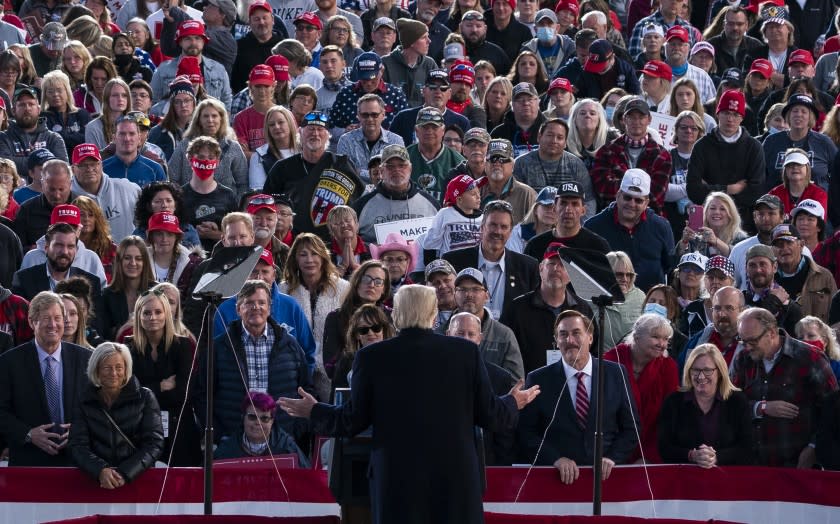
<path fill-rule="evenodd" d="M 513 178 L 513 145 L 509 140 L 494 138 L 487 147 L 484 174 L 489 183 L 481 188 L 481 202 L 504 200 L 513 207 L 513 223 L 522 222 L 534 205 L 537 193 Z"/>

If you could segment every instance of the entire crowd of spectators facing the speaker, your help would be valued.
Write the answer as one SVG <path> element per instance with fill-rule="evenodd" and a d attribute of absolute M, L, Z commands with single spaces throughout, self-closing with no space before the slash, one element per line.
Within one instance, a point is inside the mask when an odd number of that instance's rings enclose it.
<path fill-rule="evenodd" d="M 369 381 L 405 328 L 539 386 L 491 465 L 592 465 L 600 344 L 605 476 L 840 469 L 838 28 L 828 0 L 7 3 L 3 456 L 109 489 L 198 465 L 212 387 L 218 458 L 307 464 L 279 399 Z M 192 291 L 237 246 L 206 341 Z M 624 295 L 604 326 L 569 253 Z M 431 326 L 395 321 L 413 285 Z"/>

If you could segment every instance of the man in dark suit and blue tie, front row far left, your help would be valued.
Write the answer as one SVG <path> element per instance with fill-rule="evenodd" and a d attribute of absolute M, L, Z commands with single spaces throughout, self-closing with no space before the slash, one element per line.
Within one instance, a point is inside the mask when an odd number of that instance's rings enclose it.
<path fill-rule="evenodd" d="M 0 355 L 0 435 L 10 466 L 71 466 L 66 451 L 90 351 L 62 342 L 64 303 L 51 291 L 29 304 L 33 340 Z"/>

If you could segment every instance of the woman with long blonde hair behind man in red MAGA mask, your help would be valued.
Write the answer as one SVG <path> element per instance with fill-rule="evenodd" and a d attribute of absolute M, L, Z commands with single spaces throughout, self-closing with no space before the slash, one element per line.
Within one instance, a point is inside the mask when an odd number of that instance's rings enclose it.
<path fill-rule="evenodd" d="M 184 133 L 169 162 L 169 180 L 183 186 L 192 178 L 192 167 L 187 160 L 187 148 L 192 139 L 201 135 L 211 136 L 219 142 L 222 156 L 213 175 L 216 182 L 242 196 L 248 191 L 248 160 L 236 133 L 230 126 L 230 117 L 224 104 L 215 98 L 202 100 L 195 108 L 189 127 Z"/>

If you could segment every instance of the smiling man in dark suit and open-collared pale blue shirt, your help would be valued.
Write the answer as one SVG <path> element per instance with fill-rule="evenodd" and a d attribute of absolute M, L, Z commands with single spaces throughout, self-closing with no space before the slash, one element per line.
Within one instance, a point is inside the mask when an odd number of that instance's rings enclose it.
<path fill-rule="evenodd" d="M 486 307 L 493 320 L 499 320 L 514 298 L 535 289 L 539 283 L 537 261 L 505 249 L 513 226 L 513 208 L 509 203 L 504 200 L 488 202 L 481 217 L 479 244 L 443 255 L 456 271 L 468 267 L 481 271 L 490 293 Z"/>

